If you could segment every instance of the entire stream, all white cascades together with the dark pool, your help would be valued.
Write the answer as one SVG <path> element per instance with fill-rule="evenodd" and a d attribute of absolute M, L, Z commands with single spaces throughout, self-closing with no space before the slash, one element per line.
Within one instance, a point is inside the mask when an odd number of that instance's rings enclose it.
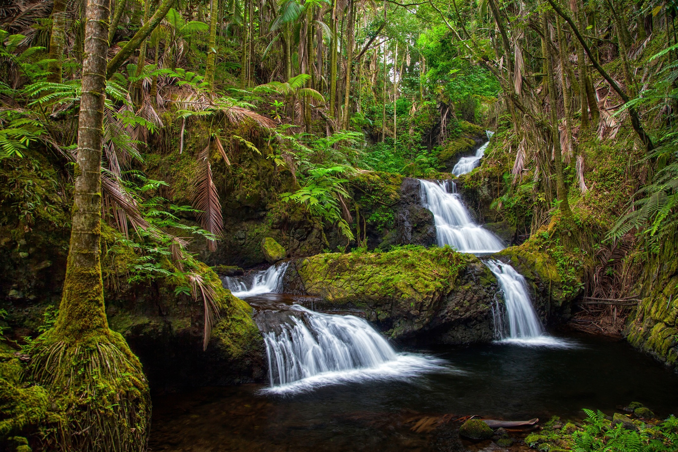
<path fill-rule="evenodd" d="M 471 171 L 486 147 L 456 171 Z M 505 449 L 460 440 L 452 415 L 545 422 L 553 415 L 581 418 L 582 408 L 610 414 L 632 401 L 658 417 L 678 415 L 678 375 L 624 340 L 546 331 L 523 276 L 487 257 L 505 245 L 473 221 L 454 182 L 420 184 L 438 245 L 479 255 L 500 284 L 494 342 L 401 349 L 356 313 L 315 312 L 308 297 L 277 293 L 285 262 L 226 277 L 224 287 L 255 310 L 268 384 L 154 398 L 149 448 L 494 451 Z"/>

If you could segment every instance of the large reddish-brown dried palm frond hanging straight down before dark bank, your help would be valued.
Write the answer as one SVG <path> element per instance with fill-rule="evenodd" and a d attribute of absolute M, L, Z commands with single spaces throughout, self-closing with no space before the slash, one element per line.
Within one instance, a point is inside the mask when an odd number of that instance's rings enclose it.
<path fill-rule="evenodd" d="M 212 165 L 210 165 L 210 144 L 198 154 L 198 173 L 196 192 L 193 205 L 200 212 L 197 218 L 204 230 L 215 236 L 224 229 L 224 218 L 221 213 L 219 194 L 212 180 Z M 216 239 L 207 239 L 210 251 L 216 251 Z"/>

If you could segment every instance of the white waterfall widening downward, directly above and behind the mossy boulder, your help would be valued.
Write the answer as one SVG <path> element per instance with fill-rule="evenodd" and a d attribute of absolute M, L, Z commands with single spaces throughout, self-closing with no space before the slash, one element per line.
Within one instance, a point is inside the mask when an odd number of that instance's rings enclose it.
<path fill-rule="evenodd" d="M 424 207 L 433 213 L 439 246 L 450 245 L 462 253 L 496 253 L 504 249 L 492 232 L 471 220 L 452 181 L 420 180 Z M 451 188 L 448 192 L 447 188 Z"/>

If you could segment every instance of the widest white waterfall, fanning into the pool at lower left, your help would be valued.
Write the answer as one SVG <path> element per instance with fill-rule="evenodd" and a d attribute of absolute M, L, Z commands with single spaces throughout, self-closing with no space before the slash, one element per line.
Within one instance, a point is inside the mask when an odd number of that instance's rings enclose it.
<path fill-rule="evenodd" d="M 443 360 L 397 353 L 386 338 L 352 315 L 322 314 L 291 306 L 299 316 L 264 333 L 267 392 L 289 393 L 327 384 L 371 379 L 410 379 L 431 371 L 449 371 Z"/>

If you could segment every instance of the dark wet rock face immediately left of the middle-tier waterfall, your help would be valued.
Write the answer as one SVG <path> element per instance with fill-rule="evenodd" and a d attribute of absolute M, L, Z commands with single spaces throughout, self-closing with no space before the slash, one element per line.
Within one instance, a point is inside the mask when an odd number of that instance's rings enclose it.
<path fill-rule="evenodd" d="M 405 178 L 400 186 L 400 206 L 395 213 L 395 243 L 433 245 L 436 240 L 433 213 L 422 206 L 420 182 Z"/>

